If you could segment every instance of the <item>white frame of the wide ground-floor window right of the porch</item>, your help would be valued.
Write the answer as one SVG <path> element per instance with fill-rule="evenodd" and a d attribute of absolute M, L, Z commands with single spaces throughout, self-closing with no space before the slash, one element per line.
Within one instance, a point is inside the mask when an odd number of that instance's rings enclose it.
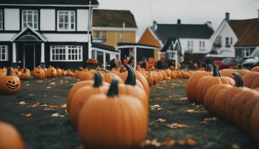
<path fill-rule="evenodd" d="M 75 47 L 77 47 L 76 48 L 76 50 L 77 50 L 77 54 L 75 54 L 75 52 L 74 52 L 74 54 L 72 54 L 72 53 L 68 53 L 68 51 L 69 51 L 69 47 L 71 47 L 71 46 L 75 46 Z M 53 53 L 52 53 L 52 50 L 53 50 L 53 47 L 65 47 L 65 60 L 53 60 L 53 58 L 52 58 L 52 55 L 53 55 Z M 58 62 L 81 62 L 81 61 L 83 61 L 83 46 L 78 46 L 78 45 L 51 45 L 50 46 L 50 61 L 58 61 Z M 54 50 L 55 50 L 55 48 L 54 48 Z M 71 49 L 72 50 L 72 49 Z M 81 51 L 80 53 L 79 53 L 79 51 Z M 70 51 L 71 52 L 71 51 Z M 56 53 L 54 53 L 55 55 L 56 55 Z M 63 54 L 63 53 L 62 53 Z M 60 55 L 60 54 L 59 54 Z M 68 59 L 68 56 L 69 55 L 77 55 L 77 60 L 69 60 Z M 54 56 L 55 57 L 55 56 Z M 80 59 L 79 59 L 80 58 Z"/>

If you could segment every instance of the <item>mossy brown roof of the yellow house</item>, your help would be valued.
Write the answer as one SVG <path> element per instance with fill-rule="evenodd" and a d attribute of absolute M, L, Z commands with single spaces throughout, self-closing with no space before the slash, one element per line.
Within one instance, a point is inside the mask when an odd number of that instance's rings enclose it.
<path fill-rule="evenodd" d="M 133 14 L 129 10 L 93 10 L 92 26 L 96 27 L 137 27 Z"/>

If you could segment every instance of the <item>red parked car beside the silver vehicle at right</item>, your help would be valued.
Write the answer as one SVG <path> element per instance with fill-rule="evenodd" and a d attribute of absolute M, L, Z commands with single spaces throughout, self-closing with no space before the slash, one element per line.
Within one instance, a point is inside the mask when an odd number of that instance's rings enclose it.
<path fill-rule="evenodd" d="M 219 65 L 220 69 L 226 69 L 228 67 L 236 67 L 238 63 L 242 62 L 242 58 L 225 58 L 222 61 L 214 61 L 213 65 Z"/>

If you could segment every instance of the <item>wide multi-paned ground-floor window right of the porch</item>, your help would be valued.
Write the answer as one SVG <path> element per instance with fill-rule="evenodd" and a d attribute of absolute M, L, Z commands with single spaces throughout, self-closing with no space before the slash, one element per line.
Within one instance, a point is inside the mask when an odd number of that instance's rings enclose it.
<path fill-rule="evenodd" d="M 51 61 L 82 61 L 82 46 L 51 46 Z"/>

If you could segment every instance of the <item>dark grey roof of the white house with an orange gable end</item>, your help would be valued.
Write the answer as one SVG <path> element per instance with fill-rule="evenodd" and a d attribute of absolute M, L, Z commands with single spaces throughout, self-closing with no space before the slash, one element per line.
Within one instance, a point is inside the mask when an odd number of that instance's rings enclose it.
<path fill-rule="evenodd" d="M 214 32 L 207 24 L 157 24 L 157 30 L 150 28 L 163 43 L 169 37 L 209 39 Z"/>

